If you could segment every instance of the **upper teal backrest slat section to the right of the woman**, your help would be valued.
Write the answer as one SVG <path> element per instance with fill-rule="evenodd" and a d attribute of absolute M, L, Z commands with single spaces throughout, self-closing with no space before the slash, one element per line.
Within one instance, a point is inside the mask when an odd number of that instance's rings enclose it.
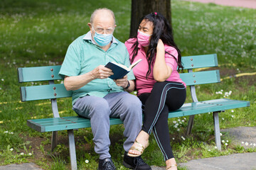
<path fill-rule="evenodd" d="M 204 67 L 217 67 L 217 55 L 193 55 L 181 57 L 184 69 L 196 69 Z"/>

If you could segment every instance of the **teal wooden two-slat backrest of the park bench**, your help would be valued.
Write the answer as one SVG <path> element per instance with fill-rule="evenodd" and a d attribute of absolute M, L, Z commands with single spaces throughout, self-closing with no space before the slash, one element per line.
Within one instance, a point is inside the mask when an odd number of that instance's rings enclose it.
<path fill-rule="evenodd" d="M 194 87 L 197 84 L 210 84 L 220 82 L 220 73 L 218 70 L 193 72 L 193 69 L 216 67 L 218 66 L 217 55 L 195 55 L 181 57 L 184 70 L 187 73 L 181 73 L 181 79 L 187 86 Z M 66 91 L 63 84 L 54 84 L 54 80 L 60 80 L 58 75 L 60 65 L 46 67 L 23 67 L 18 68 L 18 81 L 49 81 L 48 85 L 41 86 L 21 86 L 21 101 L 35 101 L 41 99 L 55 99 L 72 96 L 71 91 Z M 195 89 L 191 89 L 193 101 L 197 101 Z M 193 95 L 194 94 L 194 95 Z"/>

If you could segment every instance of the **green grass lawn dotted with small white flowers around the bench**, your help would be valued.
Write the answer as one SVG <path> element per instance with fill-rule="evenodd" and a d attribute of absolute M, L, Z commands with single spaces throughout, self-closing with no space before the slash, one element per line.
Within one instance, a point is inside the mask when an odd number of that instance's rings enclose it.
<path fill-rule="evenodd" d="M 129 38 L 131 1 L 32 1 L 3 0 L 0 3 L 0 165 L 34 162 L 42 169 L 70 169 L 67 132 L 59 132 L 59 145 L 50 153 L 50 132 L 39 133 L 26 125 L 32 118 L 53 116 L 50 101 L 21 103 L 17 67 L 61 64 L 68 45 L 89 30 L 87 23 L 95 8 L 114 11 L 114 36 Z M 217 53 L 222 82 L 197 86 L 198 99 L 231 98 L 250 101 L 249 108 L 220 113 L 220 128 L 256 126 L 256 11 L 189 1 L 171 1 L 174 38 L 182 55 Z M 236 76 L 235 76 L 236 75 Z M 33 83 L 38 85 L 41 82 Z M 59 81 L 59 83 L 61 83 Z M 189 90 L 188 90 L 189 92 Z M 187 98 L 191 102 L 191 98 Z M 60 116 L 76 115 L 71 99 L 58 100 Z M 169 119 L 171 145 L 177 162 L 256 152 L 233 145 L 223 132 L 223 150 L 215 149 L 213 115 L 196 115 L 192 135 L 186 137 L 188 117 Z M 110 130 L 110 153 L 118 169 L 122 166 L 123 125 Z M 90 128 L 76 130 L 78 169 L 95 169 Z M 148 164 L 164 166 L 154 140 L 143 157 Z M 246 141 L 245 141 L 246 142 Z M 227 144 L 225 144 L 227 143 Z M 88 161 L 88 163 L 86 163 Z"/>

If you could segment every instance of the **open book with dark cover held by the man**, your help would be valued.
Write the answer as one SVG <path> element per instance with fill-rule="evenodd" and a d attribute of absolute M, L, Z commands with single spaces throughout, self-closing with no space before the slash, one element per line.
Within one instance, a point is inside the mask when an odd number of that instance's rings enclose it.
<path fill-rule="evenodd" d="M 132 68 L 135 67 L 142 59 L 137 60 L 136 62 L 132 63 L 129 67 L 126 67 L 123 64 L 119 64 L 117 62 L 108 62 L 105 67 L 112 70 L 114 73 L 110 76 L 110 79 L 122 79 L 126 74 L 131 72 Z"/>

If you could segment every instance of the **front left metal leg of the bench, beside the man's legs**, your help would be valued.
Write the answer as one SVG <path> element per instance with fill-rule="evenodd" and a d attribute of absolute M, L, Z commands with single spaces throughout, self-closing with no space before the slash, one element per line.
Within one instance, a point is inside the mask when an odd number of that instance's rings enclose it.
<path fill-rule="evenodd" d="M 77 170 L 77 162 L 76 162 L 76 155 L 75 155 L 75 137 L 74 137 L 74 131 L 68 130 L 68 142 L 69 142 L 69 149 L 70 149 L 70 163 L 71 163 L 71 169 Z"/>

